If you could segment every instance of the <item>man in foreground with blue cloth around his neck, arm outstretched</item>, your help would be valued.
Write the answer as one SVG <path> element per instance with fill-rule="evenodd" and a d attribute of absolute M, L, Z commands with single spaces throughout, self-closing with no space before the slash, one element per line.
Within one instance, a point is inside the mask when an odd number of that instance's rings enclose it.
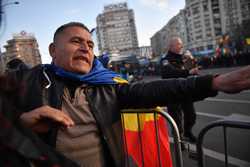
<path fill-rule="evenodd" d="M 49 53 L 51 64 L 0 78 L 0 166 L 126 166 L 122 109 L 250 89 L 250 66 L 216 76 L 130 84 L 103 67 L 89 29 L 79 22 L 55 31 Z"/>

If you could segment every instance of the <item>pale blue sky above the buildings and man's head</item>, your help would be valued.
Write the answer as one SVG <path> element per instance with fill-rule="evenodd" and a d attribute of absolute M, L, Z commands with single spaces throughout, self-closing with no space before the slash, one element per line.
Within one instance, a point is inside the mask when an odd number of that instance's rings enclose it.
<path fill-rule="evenodd" d="M 2 1 L 1 51 L 13 33 L 24 30 L 36 37 L 43 63 L 51 61 L 48 45 L 60 25 L 78 21 L 92 29 L 105 5 L 127 2 L 134 10 L 139 46 L 150 45 L 150 38 L 185 6 L 185 0 L 18 0 L 18 5 L 7 5 L 15 0 Z"/>

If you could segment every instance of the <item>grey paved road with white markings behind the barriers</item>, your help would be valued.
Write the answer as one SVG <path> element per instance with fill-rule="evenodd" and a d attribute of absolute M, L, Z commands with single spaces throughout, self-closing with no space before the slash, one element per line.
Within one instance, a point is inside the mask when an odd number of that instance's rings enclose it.
<path fill-rule="evenodd" d="M 202 74 L 224 73 L 235 68 L 220 68 L 203 70 Z M 145 77 L 146 81 L 158 79 L 159 76 Z M 219 119 L 232 116 L 237 120 L 250 122 L 250 90 L 228 95 L 219 93 L 216 97 L 207 98 L 195 103 L 197 122 L 193 129 L 198 135 L 202 128 Z M 240 114 L 240 115 L 239 115 Z M 250 167 L 250 130 L 231 128 L 227 130 L 228 153 L 230 167 Z M 224 166 L 223 130 L 215 128 L 208 132 L 204 140 L 205 162 L 207 167 Z M 196 151 L 196 146 L 190 149 Z M 196 167 L 197 162 L 189 158 L 187 151 L 183 152 L 184 167 Z"/>

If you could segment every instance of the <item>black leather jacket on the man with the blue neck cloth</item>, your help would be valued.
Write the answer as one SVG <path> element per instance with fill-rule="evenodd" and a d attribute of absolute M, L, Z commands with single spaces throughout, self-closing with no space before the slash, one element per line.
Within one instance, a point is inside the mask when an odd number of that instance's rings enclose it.
<path fill-rule="evenodd" d="M 15 77 L 25 87 L 22 98 L 19 99 L 22 112 L 29 112 L 45 104 L 61 109 L 65 86 L 62 78 L 45 70 L 43 66 L 19 71 L 15 73 Z M 212 78 L 207 75 L 147 83 L 87 86 L 86 98 L 115 166 L 124 165 L 120 121 L 122 109 L 152 108 L 187 99 L 196 101 L 214 96 L 217 92 L 211 90 Z M 48 85 L 50 87 L 46 89 Z M 57 130 L 58 127 L 52 125 L 50 131 L 41 135 L 41 138 L 48 145 L 55 147 Z"/>

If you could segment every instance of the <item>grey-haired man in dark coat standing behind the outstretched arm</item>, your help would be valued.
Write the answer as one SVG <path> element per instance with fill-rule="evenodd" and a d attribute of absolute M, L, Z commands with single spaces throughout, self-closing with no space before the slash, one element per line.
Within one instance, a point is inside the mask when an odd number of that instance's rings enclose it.
<path fill-rule="evenodd" d="M 169 50 L 165 57 L 161 59 L 161 76 L 168 78 L 187 78 L 198 74 L 198 67 L 185 67 L 182 55 L 183 43 L 178 37 L 174 37 L 169 42 Z M 196 137 L 192 133 L 195 124 L 196 114 L 192 101 L 167 105 L 169 114 L 175 120 L 181 139 L 186 137 L 189 141 L 195 142 Z M 184 120 L 183 120 L 184 117 Z M 182 146 L 184 148 L 184 146 Z"/>

